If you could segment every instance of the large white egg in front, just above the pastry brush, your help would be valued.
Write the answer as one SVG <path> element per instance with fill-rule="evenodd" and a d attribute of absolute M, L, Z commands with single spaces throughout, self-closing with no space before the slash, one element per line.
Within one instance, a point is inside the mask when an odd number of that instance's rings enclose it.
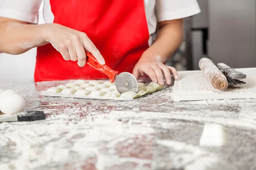
<path fill-rule="evenodd" d="M 0 98 L 0 111 L 5 114 L 19 113 L 25 107 L 25 100 L 19 94 L 8 94 Z"/>

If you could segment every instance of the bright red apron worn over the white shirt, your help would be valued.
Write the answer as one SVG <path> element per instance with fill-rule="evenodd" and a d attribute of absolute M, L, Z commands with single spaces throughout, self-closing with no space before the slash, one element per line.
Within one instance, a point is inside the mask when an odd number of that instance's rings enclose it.
<path fill-rule="evenodd" d="M 148 48 L 143 0 L 50 0 L 54 22 L 85 32 L 119 73 L 132 73 Z M 65 61 L 51 44 L 38 47 L 35 82 L 64 79 L 106 79 L 89 65 Z"/>

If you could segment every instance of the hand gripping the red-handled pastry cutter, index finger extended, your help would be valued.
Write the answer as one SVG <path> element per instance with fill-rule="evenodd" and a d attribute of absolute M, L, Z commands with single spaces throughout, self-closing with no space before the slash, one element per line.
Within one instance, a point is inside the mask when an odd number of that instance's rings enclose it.
<path fill-rule="evenodd" d="M 50 42 L 65 60 L 78 61 L 77 64 L 83 67 L 86 62 L 86 50 L 93 54 L 100 64 L 105 64 L 105 59 L 84 32 L 55 23 L 44 24 L 43 27 L 45 40 Z"/>

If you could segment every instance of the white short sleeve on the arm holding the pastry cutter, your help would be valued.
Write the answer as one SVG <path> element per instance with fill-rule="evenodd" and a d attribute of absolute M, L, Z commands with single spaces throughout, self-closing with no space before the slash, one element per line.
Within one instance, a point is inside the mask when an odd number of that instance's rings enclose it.
<path fill-rule="evenodd" d="M 0 0 L 0 17 L 38 23 L 41 3 L 42 0 Z"/>

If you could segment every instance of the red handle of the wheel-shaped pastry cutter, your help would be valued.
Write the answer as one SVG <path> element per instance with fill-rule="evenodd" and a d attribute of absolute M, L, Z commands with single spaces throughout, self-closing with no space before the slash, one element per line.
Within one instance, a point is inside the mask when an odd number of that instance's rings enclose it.
<path fill-rule="evenodd" d="M 96 70 L 99 70 L 100 72 L 106 74 L 109 77 L 111 83 L 116 80 L 116 75 L 118 74 L 118 71 L 112 70 L 107 65 L 99 64 L 97 59 L 90 52 L 85 51 L 85 53 L 87 55 L 87 59 L 86 59 L 87 64 L 89 64 L 91 67 L 95 68 Z"/>

